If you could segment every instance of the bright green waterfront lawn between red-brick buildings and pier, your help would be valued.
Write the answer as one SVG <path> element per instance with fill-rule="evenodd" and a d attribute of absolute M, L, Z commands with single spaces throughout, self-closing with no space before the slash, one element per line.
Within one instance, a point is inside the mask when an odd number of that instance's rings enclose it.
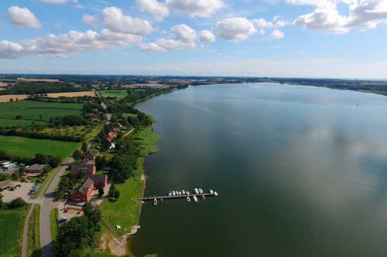
<path fill-rule="evenodd" d="M 141 161 L 139 166 L 142 167 L 144 159 L 139 159 L 139 161 Z M 102 211 L 102 218 L 113 229 L 116 228 L 116 225 L 120 225 L 122 229 L 116 232 L 118 235 L 124 235 L 130 233 L 132 226 L 137 225 L 141 201 L 136 202 L 130 199 L 141 197 L 144 181 L 131 177 L 125 183 L 115 185 L 117 190 L 121 192 L 117 202 L 113 198 L 106 198 L 99 205 L 99 208 Z M 124 230 L 125 228 L 127 230 Z"/>

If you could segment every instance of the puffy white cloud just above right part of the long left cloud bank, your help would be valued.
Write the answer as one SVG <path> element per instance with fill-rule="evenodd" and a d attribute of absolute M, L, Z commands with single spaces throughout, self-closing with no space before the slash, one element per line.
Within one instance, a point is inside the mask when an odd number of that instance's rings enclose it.
<path fill-rule="evenodd" d="M 106 7 L 102 10 L 102 17 L 107 27 L 113 32 L 144 35 L 154 31 L 149 21 L 124 15 L 117 7 Z"/>

